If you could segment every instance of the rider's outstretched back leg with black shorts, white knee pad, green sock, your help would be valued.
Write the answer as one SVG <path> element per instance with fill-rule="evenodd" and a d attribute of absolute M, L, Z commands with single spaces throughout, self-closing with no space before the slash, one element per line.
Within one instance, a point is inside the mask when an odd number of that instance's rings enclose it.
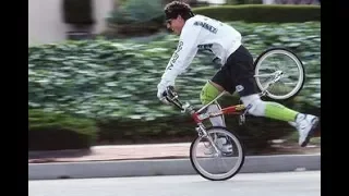
<path fill-rule="evenodd" d="M 318 118 L 291 110 L 280 103 L 263 101 L 254 79 L 253 58 L 240 47 L 227 61 L 232 83 L 245 107 L 251 106 L 250 114 L 280 121 L 293 122 L 299 131 L 299 144 L 305 146 L 317 125 Z"/>

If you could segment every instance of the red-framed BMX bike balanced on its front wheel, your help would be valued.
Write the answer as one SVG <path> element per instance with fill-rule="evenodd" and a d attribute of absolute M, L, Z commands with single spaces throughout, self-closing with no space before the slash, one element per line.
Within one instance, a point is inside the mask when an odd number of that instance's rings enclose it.
<path fill-rule="evenodd" d="M 277 60 L 276 62 L 273 61 L 275 59 Z M 261 96 L 267 96 L 276 100 L 290 99 L 303 87 L 305 75 L 303 64 L 292 51 L 286 48 L 265 50 L 257 57 L 254 65 L 254 77 Z M 287 68 L 281 69 L 281 65 L 287 65 Z M 274 87 L 276 88 L 274 89 Z M 222 91 L 209 103 L 196 110 L 189 102 L 182 103 L 172 86 L 165 91 L 166 99 L 180 109 L 181 112 L 189 113 L 196 123 L 195 131 L 197 136 L 190 146 L 190 160 L 200 175 L 212 181 L 224 181 L 234 176 L 242 168 L 245 157 L 243 144 L 233 131 L 222 126 L 206 127 L 203 123 L 209 118 L 224 118 L 225 114 L 239 115 L 240 124 L 245 122 L 245 114 L 248 114 L 251 106 L 245 107 L 240 103 L 221 108 L 217 100 L 225 94 L 226 91 Z M 212 103 L 216 103 L 219 110 L 205 112 L 205 109 Z M 228 150 L 224 148 L 224 145 L 229 147 Z M 201 149 L 204 152 L 196 151 Z M 222 163 L 216 163 L 216 160 L 210 160 L 210 158 L 221 158 Z M 227 166 L 231 162 L 232 167 L 228 169 Z"/>

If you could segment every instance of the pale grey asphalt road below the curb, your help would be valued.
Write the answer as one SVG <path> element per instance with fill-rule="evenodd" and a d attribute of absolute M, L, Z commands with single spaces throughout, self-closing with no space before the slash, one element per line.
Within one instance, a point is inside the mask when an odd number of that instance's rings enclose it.
<path fill-rule="evenodd" d="M 321 171 L 28 181 L 28 196 L 320 196 Z"/>

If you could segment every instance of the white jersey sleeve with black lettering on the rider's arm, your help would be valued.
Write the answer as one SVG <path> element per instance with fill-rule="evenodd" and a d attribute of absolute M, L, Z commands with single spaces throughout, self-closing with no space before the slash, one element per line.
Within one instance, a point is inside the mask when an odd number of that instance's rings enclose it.
<path fill-rule="evenodd" d="M 163 83 L 167 85 L 174 85 L 176 77 L 186 70 L 196 56 L 201 28 L 191 23 L 188 25 L 183 28 L 177 50 L 173 52 L 161 76 Z"/>

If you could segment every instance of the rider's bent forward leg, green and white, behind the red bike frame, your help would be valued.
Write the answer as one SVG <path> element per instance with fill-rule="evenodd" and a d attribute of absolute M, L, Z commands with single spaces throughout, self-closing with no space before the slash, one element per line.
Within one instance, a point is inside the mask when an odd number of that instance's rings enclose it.
<path fill-rule="evenodd" d="M 208 81 L 205 86 L 202 88 L 202 91 L 200 94 L 200 99 L 203 105 L 209 103 L 212 100 L 214 100 L 221 91 L 224 91 L 224 88 L 219 85 Z M 216 103 L 212 103 L 207 107 L 207 112 L 216 112 L 219 111 L 219 106 Z M 224 119 L 221 117 L 215 117 L 209 119 L 213 126 L 226 126 Z"/>

